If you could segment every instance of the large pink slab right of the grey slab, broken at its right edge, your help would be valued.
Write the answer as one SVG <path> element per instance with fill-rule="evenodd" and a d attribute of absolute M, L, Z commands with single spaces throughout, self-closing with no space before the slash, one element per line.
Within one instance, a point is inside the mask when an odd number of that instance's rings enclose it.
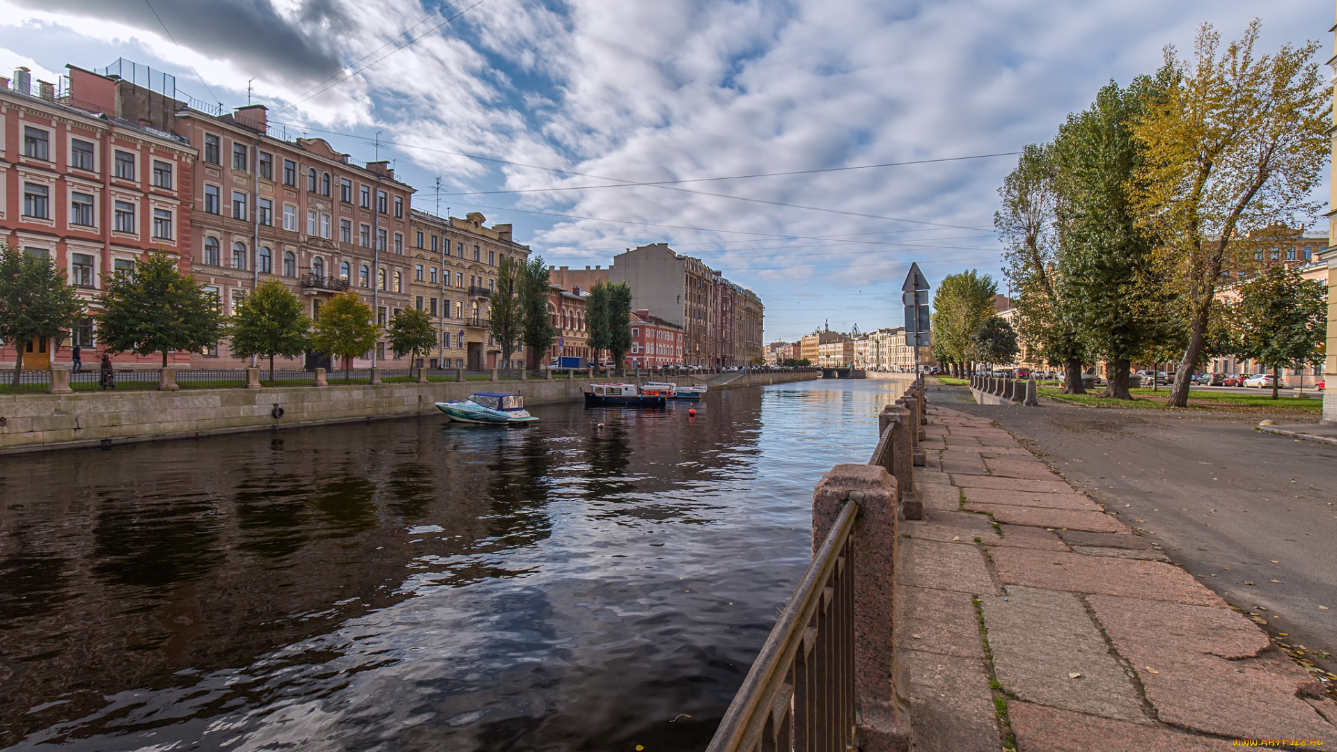
<path fill-rule="evenodd" d="M 1322 688 L 1233 609 L 1088 598 L 1162 721 L 1241 739 L 1334 739 Z M 1321 704 L 1337 717 L 1337 704 Z"/>

